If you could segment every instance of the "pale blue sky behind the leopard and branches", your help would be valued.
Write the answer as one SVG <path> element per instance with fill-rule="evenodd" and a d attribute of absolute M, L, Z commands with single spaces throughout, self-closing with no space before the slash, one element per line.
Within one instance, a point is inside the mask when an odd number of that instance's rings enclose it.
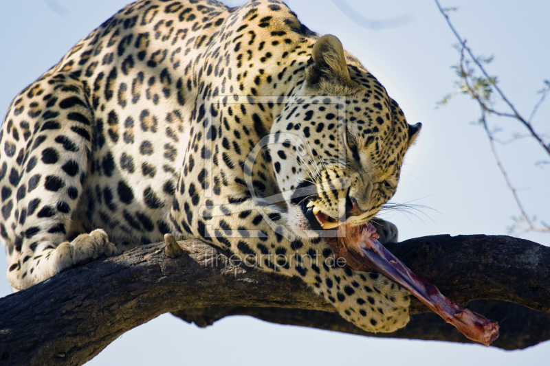
<path fill-rule="evenodd" d="M 335 0 L 336 1 L 336 0 Z M 240 5 L 244 1 L 225 1 Z M 401 240 L 417 236 L 485 233 L 506 234 L 511 216 L 518 214 L 513 198 L 494 163 L 483 130 L 471 124 L 479 116 L 474 102 L 455 98 L 436 109 L 435 103 L 453 90 L 450 65 L 458 60 L 456 43 L 433 1 L 346 0 L 351 18 L 330 0 L 287 1 L 300 21 L 320 34 L 334 34 L 357 56 L 399 102 L 408 122 L 423 130 L 410 151 L 392 201 L 413 201 L 431 207 L 418 217 L 386 216 L 399 227 Z M 4 1 L 0 13 L 0 111 L 36 80 L 80 38 L 126 5 L 125 0 Z M 521 113 L 529 115 L 550 79 L 550 2 L 442 0 L 459 6 L 452 19 L 477 54 L 494 55 L 489 72 Z M 372 30 L 355 23 L 360 18 L 404 19 L 399 27 Z M 4 112 L 0 112 L 2 115 Z M 519 126 L 492 119 L 509 137 Z M 533 121 L 550 132 L 550 100 Z M 499 146 L 511 180 L 520 188 L 527 211 L 550 222 L 550 168 L 534 163 L 544 159 L 540 147 L 522 139 Z M 521 236 L 540 244 L 550 234 Z M 5 273 L 0 254 L 0 273 Z M 434 280 L 437 284 L 437 280 Z M 10 293 L 0 276 L 0 296 Z M 499 320 L 499 319 L 496 319 Z M 524 351 L 503 352 L 480 345 L 428 341 L 369 339 L 360 336 L 272 325 L 233 317 L 199 329 L 165 314 L 124 334 L 88 365 L 148 365 L 261 363 L 289 365 L 318 363 L 408 363 L 408 365 L 542 364 L 550 343 Z"/>

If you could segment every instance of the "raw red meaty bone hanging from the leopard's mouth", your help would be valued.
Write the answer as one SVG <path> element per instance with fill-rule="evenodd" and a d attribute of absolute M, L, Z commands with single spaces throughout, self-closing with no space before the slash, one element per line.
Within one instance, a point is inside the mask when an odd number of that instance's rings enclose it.
<path fill-rule="evenodd" d="M 338 244 L 334 241 L 329 244 L 333 249 L 336 244 L 336 255 L 346 258 L 348 262 L 351 261 L 352 268 L 363 271 L 375 270 L 397 282 L 472 341 L 488 347 L 498 337 L 496 321 L 455 304 L 443 296 L 436 286 L 412 273 L 380 244 L 371 224 L 353 228 L 340 225 L 338 231 Z"/>

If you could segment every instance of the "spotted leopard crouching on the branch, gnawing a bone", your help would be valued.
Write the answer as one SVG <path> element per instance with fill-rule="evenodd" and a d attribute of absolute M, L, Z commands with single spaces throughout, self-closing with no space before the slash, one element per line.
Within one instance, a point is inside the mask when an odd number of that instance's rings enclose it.
<path fill-rule="evenodd" d="M 162 241 L 203 240 L 296 277 L 368 332 L 410 293 L 340 263 L 342 224 L 395 194 L 421 124 L 331 34 L 278 0 L 139 0 L 26 87 L 0 133 L 0 236 L 15 292 Z"/>

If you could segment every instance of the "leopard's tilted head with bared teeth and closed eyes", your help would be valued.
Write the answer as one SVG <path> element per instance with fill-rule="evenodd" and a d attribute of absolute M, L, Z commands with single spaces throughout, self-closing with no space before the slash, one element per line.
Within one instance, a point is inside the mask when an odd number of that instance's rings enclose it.
<path fill-rule="evenodd" d="M 328 234 L 341 222 L 371 220 L 395 194 L 420 128 L 406 122 L 371 73 L 348 65 L 338 38 L 319 38 L 298 96 L 276 117 L 269 146 L 293 231 Z"/>

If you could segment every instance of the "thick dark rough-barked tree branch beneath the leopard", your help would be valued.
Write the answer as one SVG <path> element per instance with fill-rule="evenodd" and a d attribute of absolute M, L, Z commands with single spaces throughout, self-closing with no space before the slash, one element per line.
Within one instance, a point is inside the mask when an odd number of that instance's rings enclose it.
<path fill-rule="evenodd" d="M 0 363 L 82 365 L 164 312 L 199 326 L 248 314 L 366 336 L 468 342 L 419 301 L 403 330 L 363 332 L 299 280 L 235 267 L 198 240 L 179 245 L 183 253 L 173 245 L 166 253 L 164 243 L 138 247 L 0 299 Z M 511 350 L 550 338 L 550 248 L 507 236 L 429 236 L 386 247 L 454 301 L 491 300 L 471 306 L 502 322 L 494 346 Z"/>

